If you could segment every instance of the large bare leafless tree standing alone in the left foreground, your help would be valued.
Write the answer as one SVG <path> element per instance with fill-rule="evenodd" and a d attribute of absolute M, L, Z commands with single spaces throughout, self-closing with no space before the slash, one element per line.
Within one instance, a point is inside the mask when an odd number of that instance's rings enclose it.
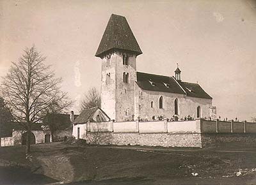
<path fill-rule="evenodd" d="M 30 152 L 31 126 L 42 121 L 51 106 L 61 102 L 59 108 L 63 108 L 70 104 L 67 93 L 61 91 L 61 78 L 56 78 L 44 61 L 35 47 L 26 48 L 19 61 L 12 63 L 1 85 L 13 119 L 28 132 L 26 153 Z"/>

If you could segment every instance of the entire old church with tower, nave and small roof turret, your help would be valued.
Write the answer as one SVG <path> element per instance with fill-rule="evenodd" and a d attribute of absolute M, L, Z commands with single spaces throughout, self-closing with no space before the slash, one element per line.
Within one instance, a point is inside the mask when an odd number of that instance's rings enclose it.
<path fill-rule="evenodd" d="M 95 54 L 102 59 L 101 109 L 110 119 L 215 118 L 212 97 L 199 84 L 183 82 L 179 66 L 175 77 L 142 73 L 136 70 L 140 54 L 126 18 L 112 14 Z"/>

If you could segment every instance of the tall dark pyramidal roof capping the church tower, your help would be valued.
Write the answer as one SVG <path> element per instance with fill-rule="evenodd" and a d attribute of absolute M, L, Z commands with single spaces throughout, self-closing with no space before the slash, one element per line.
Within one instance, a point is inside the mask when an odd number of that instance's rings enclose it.
<path fill-rule="evenodd" d="M 112 14 L 95 56 L 102 57 L 109 50 L 115 49 L 129 50 L 137 56 L 142 54 L 126 18 Z"/>

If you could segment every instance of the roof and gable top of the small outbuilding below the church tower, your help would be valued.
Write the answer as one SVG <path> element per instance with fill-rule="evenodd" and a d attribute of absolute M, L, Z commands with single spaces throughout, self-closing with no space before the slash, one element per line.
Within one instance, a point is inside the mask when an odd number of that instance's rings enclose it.
<path fill-rule="evenodd" d="M 90 120 L 90 122 L 97 122 L 97 120 L 95 120 L 95 113 L 97 112 L 97 110 L 99 110 L 100 122 L 109 121 L 110 118 L 101 108 L 93 107 L 84 109 L 83 112 L 81 112 L 81 114 L 77 116 L 77 118 L 74 121 L 74 124 L 84 124 L 88 120 Z"/>

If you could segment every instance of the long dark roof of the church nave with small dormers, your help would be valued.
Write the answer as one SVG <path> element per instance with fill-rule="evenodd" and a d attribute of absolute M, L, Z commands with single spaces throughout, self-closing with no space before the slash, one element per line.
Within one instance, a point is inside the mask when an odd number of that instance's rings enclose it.
<path fill-rule="evenodd" d="M 209 94 L 205 93 L 204 89 L 202 89 L 200 85 L 177 81 L 174 77 L 137 72 L 136 84 L 138 84 L 141 89 L 147 91 L 177 94 L 185 94 L 186 92 L 187 96 L 212 99 Z"/>

